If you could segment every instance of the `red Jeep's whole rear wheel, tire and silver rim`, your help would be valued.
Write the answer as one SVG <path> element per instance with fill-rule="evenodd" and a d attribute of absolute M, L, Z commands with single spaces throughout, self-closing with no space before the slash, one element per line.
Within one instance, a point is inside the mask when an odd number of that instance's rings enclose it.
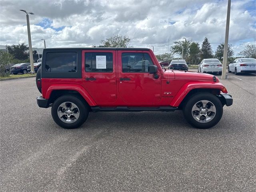
<path fill-rule="evenodd" d="M 86 121 L 88 114 L 88 104 L 81 97 L 61 96 L 52 105 L 52 118 L 62 128 L 78 128 Z"/>

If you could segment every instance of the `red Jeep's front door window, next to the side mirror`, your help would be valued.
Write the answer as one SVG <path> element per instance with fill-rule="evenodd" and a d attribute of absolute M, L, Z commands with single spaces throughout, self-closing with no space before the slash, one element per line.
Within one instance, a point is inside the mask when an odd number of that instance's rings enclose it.
<path fill-rule="evenodd" d="M 154 65 L 147 53 L 123 53 L 122 72 L 148 72 L 148 67 Z"/>

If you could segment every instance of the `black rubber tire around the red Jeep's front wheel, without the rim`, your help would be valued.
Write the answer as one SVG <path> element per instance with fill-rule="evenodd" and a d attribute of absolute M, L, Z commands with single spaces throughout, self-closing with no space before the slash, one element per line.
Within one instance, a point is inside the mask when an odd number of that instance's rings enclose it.
<path fill-rule="evenodd" d="M 213 117 L 213 119 L 209 122 L 205 122 L 205 123 L 198 122 L 194 119 L 194 117 L 192 115 L 192 108 L 193 108 L 194 104 L 196 104 L 197 102 L 200 102 L 201 100 L 208 100 L 208 101 L 212 102 L 212 104 L 214 104 L 214 106 L 216 108 L 216 114 Z M 220 121 L 222 114 L 223 114 L 223 106 L 222 106 L 222 103 L 220 102 L 220 100 L 213 94 L 210 94 L 210 93 L 194 94 L 184 104 L 183 114 L 184 114 L 184 117 L 187 120 L 187 122 L 189 124 L 191 124 L 192 126 L 194 126 L 196 128 L 200 128 L 200 129 L 208 129 L 208 128 L 213 127 Z"/>

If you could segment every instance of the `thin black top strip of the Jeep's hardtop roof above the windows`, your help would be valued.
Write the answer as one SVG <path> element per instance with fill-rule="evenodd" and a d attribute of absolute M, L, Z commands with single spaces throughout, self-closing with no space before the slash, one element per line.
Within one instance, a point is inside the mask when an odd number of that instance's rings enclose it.
<path fill-rule="evenodd" d="M 116 47 L 74 47 L 74 48 L 45 48 L 44 50 L 139 50 L 139 51 L 148 51 L 149 48 L 116 48 Z"/>

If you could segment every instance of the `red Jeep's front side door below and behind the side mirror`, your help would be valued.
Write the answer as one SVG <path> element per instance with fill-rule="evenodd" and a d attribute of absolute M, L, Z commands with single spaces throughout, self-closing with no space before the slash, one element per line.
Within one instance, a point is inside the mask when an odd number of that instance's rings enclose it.
<path fill-rule="evenodd" d="M 161 99 L 161 75 L 154 78 L 148 66 L 154 65 L 150 52 L 118 50 L 118 96 L 130 104 L 153 104 Z"/>

